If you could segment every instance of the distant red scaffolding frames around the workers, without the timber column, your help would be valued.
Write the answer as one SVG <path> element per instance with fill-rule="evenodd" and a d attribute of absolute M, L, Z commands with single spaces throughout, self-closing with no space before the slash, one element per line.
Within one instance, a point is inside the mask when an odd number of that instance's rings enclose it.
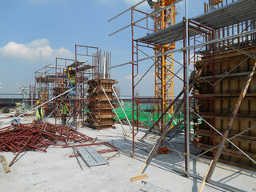
<path fill-rule="evenodd" d="M 85 122 L 85 111 L 88 102 L 95 102 L 95 106 L 98 106 L 97 98 L 90 98 L 90 95 L 86 98 L 87 86 L 86 83 L 89 79 L 95 79 L 96 81 L 102 77 L 102 70 L 99 69 L 100 55 L 98 47 L 94 46 L 81 46 L 75 45 L 75 57 L 70 58 L 55 58 L 55 66 L 44 66 L 42 69 L 35 72 L 34 86 L 30 85 L 31 104 L 35 105 L 37 100 L 42 103 L 46 102 L 44 110 L 46 114 L 54 114 L 55 124 L 60 117 L 60 104 L 65 103 L 70 111 L 69 120 L 66 122 L 70 126 L 74 125 L 75 129 L 78 128 L 78 120 Z M 104 57 L 105 57 L 104 53 Z M 110 57 L 110 56 L 108 56 Z M 82 58 L 91 59 L 92 65 L 88 65 L 82 61 Z M 79 59 L 79 60 L 78 60 Z M 108 61 L 108 60 L 106 60 Z M 74 68 L 75 71 L 75 90 L 74 98 L 70 97 L 70 82 L 67 78 L 68 67 Z M 110 77 L 110 70 L 105 74 L 106 78 Z M 98 85 L 97 90 L 101 89 Z M 45 97 L 40 97 L 40 92 L 45 93 Z M 62 93 L 66 94 L 62 94 Z M 51 97 L 57 97 L 62 94 L 61 97 L 55 98 L 54 101 L 47 102 Z M 95 107 L 95 112 L 99 113 L 99 108 Z M 49 115 L 49 116 L 50 116 Z M 97 129 L 99 129 L 99 123 L 97 122 Z"/>

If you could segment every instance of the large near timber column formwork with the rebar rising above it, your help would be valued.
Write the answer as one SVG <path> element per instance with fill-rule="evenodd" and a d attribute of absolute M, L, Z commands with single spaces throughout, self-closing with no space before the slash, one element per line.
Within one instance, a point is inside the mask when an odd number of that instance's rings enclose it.
<path fill-rule="evenodd" d="M 229 4 L 230 7 L 228 7 Z M 221 6 L 226 6 L 230 9 L 232 18 L 237 18 L 239 22 L 235 23 L 227 20 L 225 22 L 226 25 L 214 26 L 216 33 L 209 40 L 255 29 L 255 20 L 244 16 L 244 13 L 254 15 L 250 13 L 250 11 L 253 12 L 255 10 L 254 4 L 250 4 L 249 1 L 232 0 L 232 3 L 231 1 L 215 1 L 209 5 L 205 3 L 204 12 L 214 11 Z M 232 10 L 232 6 L 239 8 Z M 243 13 L 238 14 L 238 10 L 243 11 Z M 212 23 L 209 24 L 211 25 Z M 205 40 L 208 41 L 208 38 L 206 37 Z M 239 38 L 223 40 L 216 43 L 215 46 L 206 46 L 205 52 L 202 51 L 202 60 L 195 65 L 197 69 L 202 69 L 201 78 L 198 80 L 202 85 L 202 89 L 194 91 L 194 97 L 199 98 L 198 102 L 200 103 L 199 106 L 194 106 L 194 111 L 196 113 L 198 111 L 203 118 L 202 124 L 194 125 L 197 135 L 195 141 L 198 142 L 198 149 L 202 150 L 202 152 L 220 144 L 222 136 L 217 131 L 223 134 L 227 129 L 230 118 L 234 118 L 232 113 L 238 102 L 239 94 L 255 63 L 255 50 L 255 34 L 252 33 L 245 34 Z M 232 146 L 230 142 L 226 142 L 218 160 L 219 162 L 256 170 L 256 165 L 253 162 L 256 158 L 256 143 L 254 142 L 256 130 L 252 129 L 256 124 L 255 96 L 256 80 L 253 77 L 228 135 L 228 138 L 231 138 L 239 134 L 239 136 L 232 139 L 232 142 L 250 156 L 251 159 Z M 213 127 L 217 131 L 214 131 Z M 250 130 L 248 130 L 249 128 Z M 215 150 L 210 150 L 204 157 L 214 158 Z"/>

